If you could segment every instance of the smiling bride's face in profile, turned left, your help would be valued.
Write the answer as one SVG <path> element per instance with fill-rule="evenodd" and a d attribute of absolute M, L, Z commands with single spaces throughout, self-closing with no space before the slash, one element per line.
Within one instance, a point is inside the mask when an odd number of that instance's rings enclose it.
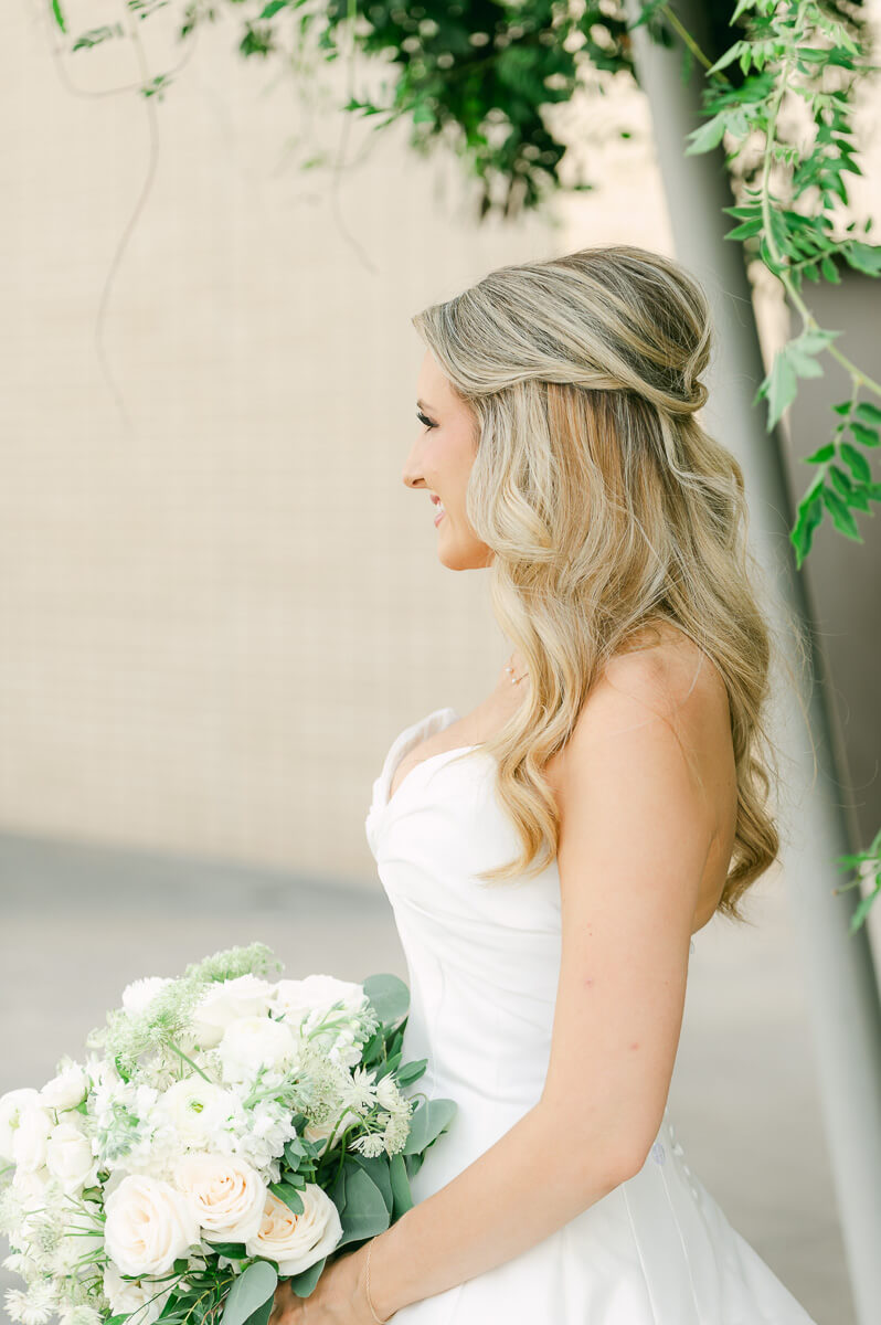
<path fill-rule="evenodd" d="M 488 566 L 492 553 L 465 515 L 465 489 L 477 453 L 477 421 L 453 392 L 431 350 L 425 351 L 416 379 L 416 411 L 419 435 L 403 478 L 408 488 L 423 493 L 427 526 L 436 521 L 437 555 L 453 571 Z M 432 496 L 440 498 L 440 505 L 432 504 Z"/>

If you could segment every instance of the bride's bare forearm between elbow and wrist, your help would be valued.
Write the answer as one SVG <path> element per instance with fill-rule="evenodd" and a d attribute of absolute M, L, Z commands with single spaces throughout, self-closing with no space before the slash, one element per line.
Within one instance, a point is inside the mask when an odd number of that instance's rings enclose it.
<path fill-rule="evenodd" d="M 584 1154 L 555 1121 L 537 1104 L 374 1240 L 371 1297 L 383 1320 L 511 1260 L 629 1177 L 619 1151 L 597 1142 Z"/>

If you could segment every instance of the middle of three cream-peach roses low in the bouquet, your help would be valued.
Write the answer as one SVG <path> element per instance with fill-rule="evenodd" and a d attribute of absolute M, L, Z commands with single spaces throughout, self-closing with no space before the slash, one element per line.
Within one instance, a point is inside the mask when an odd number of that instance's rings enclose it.
<path fill-rule="evenodd" d="M 175 1165 L 174 1179 L 189 1199 L 207 1242 L 244 1243 L 254 1236 L 266 1204 L 266 1183 L 246 1161 L 188 1154 Z"/>

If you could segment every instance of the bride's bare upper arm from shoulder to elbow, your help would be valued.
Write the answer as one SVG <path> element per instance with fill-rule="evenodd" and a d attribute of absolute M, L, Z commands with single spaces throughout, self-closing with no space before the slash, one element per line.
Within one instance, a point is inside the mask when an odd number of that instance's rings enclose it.
<path fill-rule="evenodd" d="M 656 657 L 623 659 L 615 684 L 591 693 L 558 778 L 562 957 L 541 1108 L 588 1185 L 600 1157 L 619 1181 L 643 1166 L 682 1024 L 715 815 L 706 754 L 696 776 L 676 734 L 706 751 L 713 696 L 678 676 Z"/>

